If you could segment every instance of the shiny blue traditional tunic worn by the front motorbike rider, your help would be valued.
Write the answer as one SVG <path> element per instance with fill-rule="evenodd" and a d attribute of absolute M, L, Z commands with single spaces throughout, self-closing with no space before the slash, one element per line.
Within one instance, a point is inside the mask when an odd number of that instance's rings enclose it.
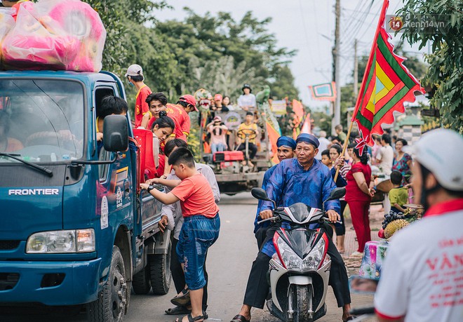
<path fill-rule="evenodd" d="M 323 208 L 323 201 L 328 199 L 336 185 L 330 169 L 321 161 L 314 159 L 309 170 L 304 170 L 297 159 L 286 159 L 275 166 L 273 174 L 267 182 L 266 192 L 269 199 L 278 207 L 288 207 L 302 202 L 314 208 Z M 331 200 L 325 203 L 325 210 L 335 210 L 340 213 L 340 201 Z M 262 210 L 273 209 L 269 201 L 262 202 Z M 275 247 L 269 240 L 262 247 L 262 253 L 273 255 Z"/>

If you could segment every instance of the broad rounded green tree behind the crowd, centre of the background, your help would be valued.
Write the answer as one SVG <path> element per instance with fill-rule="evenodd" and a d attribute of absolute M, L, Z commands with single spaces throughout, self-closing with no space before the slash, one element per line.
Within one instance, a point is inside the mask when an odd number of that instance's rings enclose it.
<path fill-rule="evenodd" d="M 202 16 L 189 8 L 184 10 L 188 13 L 184 22 L 156 24 L 156 31 L 166 36 L 166 43 L 169 43 L 170 51 L 178 62 L 181 81 L 175 85 L 177 93 L 182 88 L 194 91 L 209 85 L 213 89 L 206 88 L 208 90 L 238 95 L 243 83 L 247 82 L 257 89 L 261 85 L 276 84 L 276 93 L 288 90 L 284 96 L 294 95 L 297 98 L 292 75 L 288 77 L 290 70 L 286 69 L 295 52 L 276 46 L 274 34 L 267 31 L 270 18 L 258 20 L 248 12 L 241 20 L 235 21 L 230 13 L 206 13 Z M 224 57 L 233 58 L 234 72 L 228 70 L 230 60 Z M 222 63 L 217 65 L 215 62 Z M 223 76 L 210 70 L 211 67 L 217 67 L 219 72 L 224 73 Z M 243 72 L 239 74 L 239 70 Z M 226 88 L 224 79 L 229 82 Z M 198 81 L 203 83 L 198 84 Z M 231 88 L 233 83 L 236 83 L 235 88 Z M 283 83 L 287 88 L 281 86 Z"/>

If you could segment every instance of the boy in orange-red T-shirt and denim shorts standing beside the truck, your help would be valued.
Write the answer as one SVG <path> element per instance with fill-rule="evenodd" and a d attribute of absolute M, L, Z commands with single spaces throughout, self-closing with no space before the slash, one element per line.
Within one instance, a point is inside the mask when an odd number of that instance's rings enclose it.
<path fill-rule="evenodd" d="M 188 321 L 204 321 L 207 314 L 202 309 L 204 279 L 204 261 L 208 248 L 219 237 L 219 207 L 206 177 L 201 175 L 194 164 L 192 152 L 179 147 L 169 156 L 169 164 L 175 175 L 182 180 L 171 192 L 165 194 L 153 186 L 141 184 L 147 191 L 166 205 L 180 201 L 184 223 L 177 243 L 177 255 L 182 264 L 186 288 L 175 297 L 177 300 L 189 300 L 192 313 L 186 316 Z M 183 321 L 177 318 L 175 321 Z"/>

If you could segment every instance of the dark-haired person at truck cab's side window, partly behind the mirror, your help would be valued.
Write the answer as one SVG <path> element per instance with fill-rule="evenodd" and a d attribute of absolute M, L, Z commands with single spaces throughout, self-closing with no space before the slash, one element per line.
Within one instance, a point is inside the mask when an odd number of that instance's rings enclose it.
<path fill-rule="evenodd" d="M 103 124 L 105 117 L 112 114 L 127 115 L 128 105 L 125 100 L 117 96 L 107 95 L 101 100 L 101 105 L 97 108 L 96 131 L 98 155 L 103 147 Z"/>

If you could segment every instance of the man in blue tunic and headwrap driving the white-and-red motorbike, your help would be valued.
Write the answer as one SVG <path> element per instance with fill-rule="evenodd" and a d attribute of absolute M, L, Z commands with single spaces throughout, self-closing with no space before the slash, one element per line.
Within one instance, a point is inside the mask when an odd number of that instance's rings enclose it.
<path fill-rule="evenodd" d="M 321 209 L 323 201 L 328 199 L 330 192 L 335 189 L 335 182 L 333 182 L 330 170 L 323 166 L 321 161 L 314 159 L 318 153 L 318 139 L 314 135 L 303 133 L 297 137 L 296 143 L 296 158 L 283 160 L 276 166 L 267 183 L 267 195 L 276 201 L 278 207 L 302 202 Z M 260 217 L 263 220 L 272 217 L 272 208 L 273 205 L 269 201 L 264 201 Z M 331 222 L 340 220 L 339 200 L 327 201 L 325 208 Z M 249 274 L 243 306 L 231 322 L 250 321 L 251 307 L 260 309 L 264 307 L 269 291 L 265 276 L 269 269 L 271 256 L 275 253 L 272 239 L 276 229 L 278 227 L 273 225 L 267 230 L 266 239 Z M 342 307 L 342 321 L 349 321 L 352 317 L 349 314 L 351 299 L 347 271 L 331 239 L 328 241 L 328 255 L 332 261 L 329 284 L 333 287 L 338 307 Z"/>

